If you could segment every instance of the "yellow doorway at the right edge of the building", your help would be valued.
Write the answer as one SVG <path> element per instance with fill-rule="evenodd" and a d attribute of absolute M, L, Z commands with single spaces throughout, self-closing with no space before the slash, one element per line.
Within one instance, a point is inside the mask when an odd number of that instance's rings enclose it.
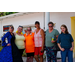
<path fill-rule="evenodd" d="M 73 39 L 75 40 L 75 16 L 71 17 L 71 34 Z M 75 41 L 74 41 L 74 45 L 75 45 Z M 75 58 L 75 46 L 73 50 L 73 57 Z"/>

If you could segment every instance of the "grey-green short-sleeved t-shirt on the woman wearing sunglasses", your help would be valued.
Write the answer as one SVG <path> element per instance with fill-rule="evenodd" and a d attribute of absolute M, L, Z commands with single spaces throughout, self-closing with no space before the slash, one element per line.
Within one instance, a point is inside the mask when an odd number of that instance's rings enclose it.
<path fill-rule="evenodd" d="M 51 33 L 49 33 L 49 29 L 46 31 L 46 40 L 45 40 L 45 45 L 46 47 L 52 47 L 54 46 L 54 43 L 52 43 L 52 37 L 54 37 L 54 40 L 56 40 L 56 36 L 59 35 L 59 32 L 54 29 Z"/>

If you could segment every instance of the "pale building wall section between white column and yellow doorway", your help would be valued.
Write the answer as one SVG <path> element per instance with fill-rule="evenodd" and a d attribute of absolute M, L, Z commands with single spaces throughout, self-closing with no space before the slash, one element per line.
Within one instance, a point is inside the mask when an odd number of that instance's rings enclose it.
<path fill-rule="evenodd" d="M 67 25 L 69 32 L 71 33 L 71 18 L 75 16 L 75 12 L 50 12 L 50 21 L 56 23 L 56 29 L 60 30 L 62 24 Z"/>

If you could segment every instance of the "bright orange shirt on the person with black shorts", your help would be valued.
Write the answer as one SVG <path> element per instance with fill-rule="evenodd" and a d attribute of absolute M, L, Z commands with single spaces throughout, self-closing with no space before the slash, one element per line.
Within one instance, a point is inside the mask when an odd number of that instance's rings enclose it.
<path fill-rule="evenodd" d="M 24 34 L 25 37 L 25 47 L 26 47 L 26 53 L 33 53 L 34 52 L 34 33 L 31 34 Z"/>

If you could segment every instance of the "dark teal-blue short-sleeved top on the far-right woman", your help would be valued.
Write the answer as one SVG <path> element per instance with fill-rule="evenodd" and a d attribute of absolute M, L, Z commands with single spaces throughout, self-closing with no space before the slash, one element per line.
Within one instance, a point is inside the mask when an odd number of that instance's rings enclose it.
<path fill-rule="evenodd" d="M 60 34 L 57 40 L 57 43 L 60 43 L 62 48 L 71 48 L 72 47 L 72 42 L 73 38 L 71 34 Z"/>

